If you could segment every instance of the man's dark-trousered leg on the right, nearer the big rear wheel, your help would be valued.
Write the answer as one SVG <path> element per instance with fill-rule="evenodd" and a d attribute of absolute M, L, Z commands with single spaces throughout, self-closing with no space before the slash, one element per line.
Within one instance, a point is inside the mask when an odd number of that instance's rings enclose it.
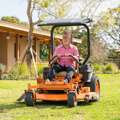
<path fill-rule="evenodd" d="M 65 76 L 65 79 L 68 80 L 68 83 L 72 79 L 74 71 L 75 71 L 75 66 L 66 67 L 67 75 Z"/>

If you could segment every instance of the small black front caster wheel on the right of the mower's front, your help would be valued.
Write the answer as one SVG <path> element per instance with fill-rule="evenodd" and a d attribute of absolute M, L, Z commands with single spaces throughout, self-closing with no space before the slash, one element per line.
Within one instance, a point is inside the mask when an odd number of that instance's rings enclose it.
<path fill-rule="evenodd" d="M 69 107 L 77 106 L 77 100 L 75 99 L 75 91 L 71 91 L 68 93 L 67 103 Z"/>

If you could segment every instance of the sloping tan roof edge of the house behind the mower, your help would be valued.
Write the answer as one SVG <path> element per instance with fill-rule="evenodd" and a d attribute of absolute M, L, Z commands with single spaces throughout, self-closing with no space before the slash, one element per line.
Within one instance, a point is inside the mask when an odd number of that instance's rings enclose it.
<path fill-rule="evenodd" d="M 7 33 L 7 31 L 9 31 L 9 33 L 23 34 L 27 36 L 29 27 L 0 20 L 0 32 Z M 33 37 L 39 38 L 40 41 L 51 39 L 50 32 L 35 28 L 33 30 Z M 55 39 L 62 40 L 62 35 L 56 34 Z M 73 42 L 81 43 L 82 40 L 74 38 Z"/>

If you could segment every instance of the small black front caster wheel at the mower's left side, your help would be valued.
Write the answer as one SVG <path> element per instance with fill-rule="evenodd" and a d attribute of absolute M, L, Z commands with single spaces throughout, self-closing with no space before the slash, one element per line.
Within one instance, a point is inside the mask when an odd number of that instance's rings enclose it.
<path fill-rule="evenodd" d="M 35 106 L 36 100 L 33 100 L 33 92 L 28 91 L 26 93 L 25 102 L 27 106 Z"/>

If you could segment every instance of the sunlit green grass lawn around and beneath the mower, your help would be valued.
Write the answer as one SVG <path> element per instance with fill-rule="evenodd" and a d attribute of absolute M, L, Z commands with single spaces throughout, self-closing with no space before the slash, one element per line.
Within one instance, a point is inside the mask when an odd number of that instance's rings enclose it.
<path fill-rule="evenodd" d="M 120 74 L 98 74 L 101 96 L 98 102 L 79 102 L 69 108 L 67 102 L 43 103 L 27 107 L 17 98 L 36 81 L 0 80 L 0 120 L 120 120 Z"/>

